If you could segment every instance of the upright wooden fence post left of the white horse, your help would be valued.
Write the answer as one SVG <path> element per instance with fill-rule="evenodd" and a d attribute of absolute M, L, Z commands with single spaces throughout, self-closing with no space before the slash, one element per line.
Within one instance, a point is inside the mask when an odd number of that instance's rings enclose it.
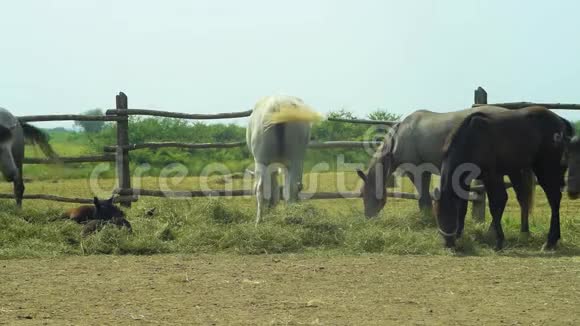
<path fill-rule="evenodd" d="M 116 108 L 117 110 L 127 110 L 128 102 L 127 95 L 120 92 L 116 96 Z M 129 170 L 129 151 L 126 146 L 129 145 L 129 117 L 128 115 L 122 115 L 124 119 L 117 121 L 117 181 L 118 187 L 121 190 L 120 194 L 122 196 L 131 196 L 131 171 Z M 131 207 L 131 201 L 121 201 L 121 206 Z"/>

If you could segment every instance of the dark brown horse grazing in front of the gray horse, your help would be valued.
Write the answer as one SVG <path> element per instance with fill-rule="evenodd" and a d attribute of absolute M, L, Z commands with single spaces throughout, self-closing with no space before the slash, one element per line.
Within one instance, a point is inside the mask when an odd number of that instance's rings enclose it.
<path fill-rule="evenodd" d="M 511 177 L 531 168 L 551 208 L 550 231 L 544 247 L 555 248 L 560 239 L 565 154 L 571 152 L 568 145 L 573 133 L 568 121 L 539 106 L 477 112 L 465 118 L 444 148 L 437 221 L 446 246 L 454 247 L 455 239 L 463 232 L 465 194 L 470 182 L 477 178 L 483 181 L 489 197 L 495 248 L 503 248 L 501 217 L 508 199 L 503 176 Z"/>

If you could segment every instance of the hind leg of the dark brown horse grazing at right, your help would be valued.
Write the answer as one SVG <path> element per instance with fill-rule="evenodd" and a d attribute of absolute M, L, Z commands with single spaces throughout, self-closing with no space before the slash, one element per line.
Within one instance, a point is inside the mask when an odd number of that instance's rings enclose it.
<path fill-rule="evenodd" d="M 545 173 L 544 171 L 549 171 Z M 546 193 L 546 198 L 550 204 L 552 216 L 550 218 L 550 231 L 548 232 L 548 241 L 542 249 L 552 250 L 556 248 L 560 239 L 560 201 L 562 200 L 561 176 L 555 177 L 554 169 L 534 169 L 538 183 Z"/>

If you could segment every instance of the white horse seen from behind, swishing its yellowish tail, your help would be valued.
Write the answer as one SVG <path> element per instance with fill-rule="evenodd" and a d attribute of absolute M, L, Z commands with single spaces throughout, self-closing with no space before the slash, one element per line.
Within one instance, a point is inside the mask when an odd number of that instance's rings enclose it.
<path fill-rule="evenodd" d="M 255 162 L 256 224 L 260 223 L 264 204 L 268 202 L 273 207 L 280 200 L 280 170 L 284 170 L 285 177 L 284 200 L 298 200 L 310 128 L 321 118 L 292 96 L 268 96 L 256 103 L 246 129 L 246 142 Z"/>

